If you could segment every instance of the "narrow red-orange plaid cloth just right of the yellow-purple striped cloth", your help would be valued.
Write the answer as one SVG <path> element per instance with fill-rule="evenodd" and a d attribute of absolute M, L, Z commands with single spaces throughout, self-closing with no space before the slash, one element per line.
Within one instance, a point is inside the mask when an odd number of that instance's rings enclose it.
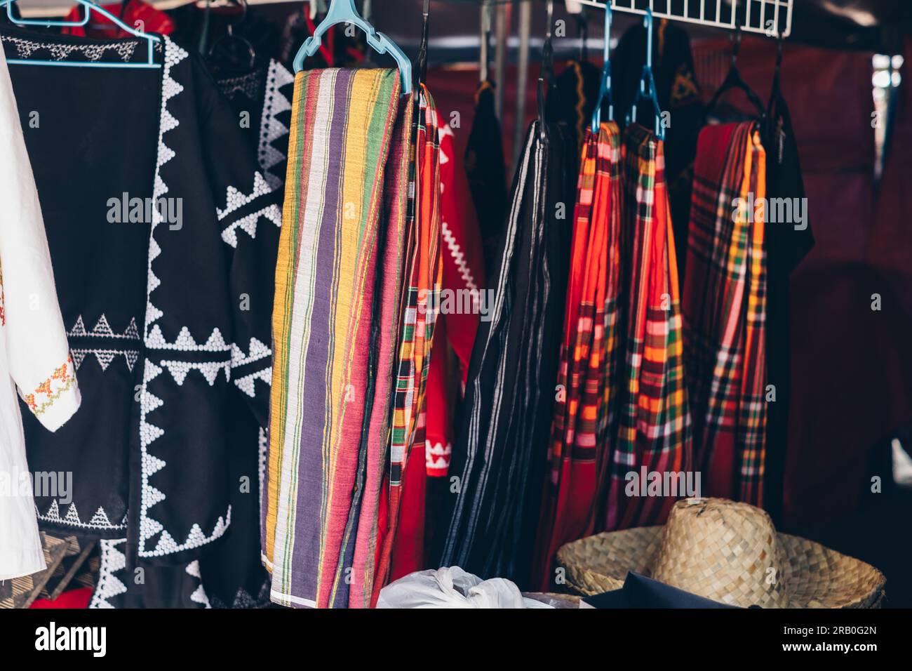
<path fill-rule="evenodd" d="M 424 459 L 424 392 L 430 370 L 434 323 L 440 305 L 440 132 L 430 91 L 423 84 L 413 127 L 409 183 L 407 265 L 399 320 L 399 362 L 392 407 L 387 529 L 379 550 L 373 603 L 389 578 L 405 472 L 411 457 Z M 417 450 L 417 451 L 416 451 Z M 412 452 L 414 454 L 412 454 Z M 409 514 L 409 511 L 403 511 Z"/>

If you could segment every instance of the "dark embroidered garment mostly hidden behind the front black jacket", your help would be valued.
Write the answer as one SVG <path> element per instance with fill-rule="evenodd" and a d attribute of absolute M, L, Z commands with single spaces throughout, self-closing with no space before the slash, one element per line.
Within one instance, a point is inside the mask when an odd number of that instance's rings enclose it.
<path fill-rule="evenodd" d="M 212 63 L 208 65 L 212 68 Z M 249 72 L 217 77 L 216 83 L 231 103 L 234 119 L 241 121 L 240 131 L 256 153 L 266 183 L 276 194 L 284 194 L 294 75 L 269 60 Z M 270 314 L 271 309 L 270 304 Z M 232 394 L 227 402 L 229 481 L 239 484 L 231 488 L 231 528 L 222 542 L 202 556 L 200 571 L 213 608 L 260 608 L 271 603 L 269 590 L 264 590 L 269 580 L 260 551 L 261 481 L 268 438 L 266 427 L 245 412 L 242 394 Z"/>

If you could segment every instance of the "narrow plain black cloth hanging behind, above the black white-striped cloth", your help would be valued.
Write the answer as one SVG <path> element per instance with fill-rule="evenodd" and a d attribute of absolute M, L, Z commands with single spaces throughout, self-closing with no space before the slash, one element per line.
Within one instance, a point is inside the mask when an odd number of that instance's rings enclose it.
<path fill-rule="evenodd" d="M 475 92 L 472 131 L 465 148 L 465 172 L 482 231 L 484 267 L 492 277 L 499 260 L 507 207 L 506 162 L 501 125 L 494 110 L 492 81 L 482 81 Z"/>

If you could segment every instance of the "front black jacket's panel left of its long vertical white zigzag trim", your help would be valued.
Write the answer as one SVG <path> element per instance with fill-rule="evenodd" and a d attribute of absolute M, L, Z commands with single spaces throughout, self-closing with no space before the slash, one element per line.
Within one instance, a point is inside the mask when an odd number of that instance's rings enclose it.
<path fill-rule="evenodd" d="M 136 46 L 49 42 L 9 26 L 0 26 L 0 40 L 6 58 L 55 58 L 63 49 L 69 59 L 129 58 Z M 150 234 L 144 207 L 131 216 L 130 198 L 144 204 L 152 195 L 161 73 L 12 65 L 10 74 L 84 403 L 53 434 L 23 414 L 29 467 L 54 474 L 36 488 L 38 518 L 61 535 L 122 538 Z"/>

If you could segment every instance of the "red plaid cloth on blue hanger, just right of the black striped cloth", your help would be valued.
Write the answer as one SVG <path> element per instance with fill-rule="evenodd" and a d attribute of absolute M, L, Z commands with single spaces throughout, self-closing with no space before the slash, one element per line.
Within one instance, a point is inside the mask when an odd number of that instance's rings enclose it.
<path fill-rule="evenodd" d="M 586 131 L 576 192 L 564 341 L 538 525 L 533 580 L 552 582 L 565 542 L 602 529 L 607 459 L 617 436 L 621 321 L 621 136 L 614 121 Z"/>

